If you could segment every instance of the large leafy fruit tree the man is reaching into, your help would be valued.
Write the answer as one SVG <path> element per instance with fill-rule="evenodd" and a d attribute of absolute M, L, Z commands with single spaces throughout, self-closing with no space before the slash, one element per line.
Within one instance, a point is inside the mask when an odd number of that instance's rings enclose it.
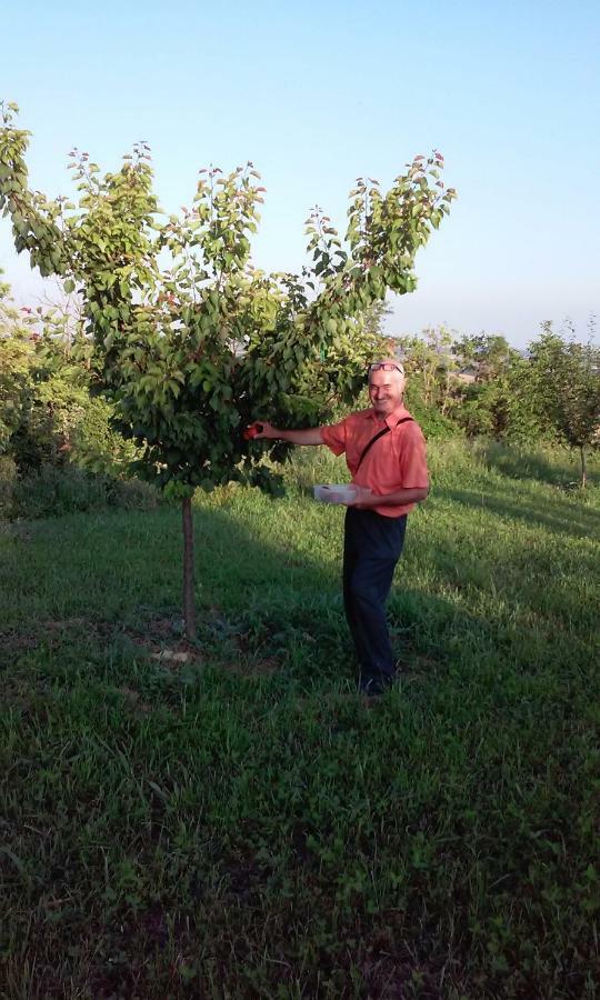
<path fill-rule="evenodd" d="M 311 263 L 301 276 L 252 267 L 264 188 L 251 163 L 228 174 L 200 171 L 189 208 L 166 218 L 152 192 L 149 147 L 101 174 L 72 150 L 78 203 L 31 191 L 29 132 L 2 104 L 0 208 L 17 250 L 82 299 L 99 388 L 119 427 L 143 447 L 138 471 L 182 502 L 186 631 L 196 636 L 191 496 L 239 481 L 263 489 L 277 477 L 261 462 L 289 446 L 246 440 L 243 429 L 322 422 L 351 403 L 378 350 L 361 317 L 416 287 L 414 257 L 454 197 L 443 158 L 416 157 L 389 191 L 359 179 L 342 242 L 314 209 L 307 221 Z M 164 259 L 167 266 L 164 264 Z"/>

